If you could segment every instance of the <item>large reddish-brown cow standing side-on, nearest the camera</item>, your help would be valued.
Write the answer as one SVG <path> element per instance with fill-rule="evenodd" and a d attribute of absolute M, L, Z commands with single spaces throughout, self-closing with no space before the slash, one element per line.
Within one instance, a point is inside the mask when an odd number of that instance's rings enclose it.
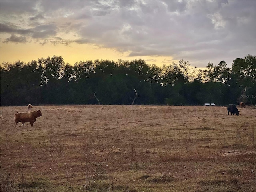
<path fill-rule="evenodd" d="M 24 123 L 30 122 L 30 125 L 33 126 L 34 122 L 36 121 L 36 118 L 40 116 L 42 116 L 42 113 L 40 110 L 32 111 L 29 113 L 17 112 L 14 115 L 14 126 L 16 127 L 18 122 L 21 122 L 23 126 L 24 126 Z"/>

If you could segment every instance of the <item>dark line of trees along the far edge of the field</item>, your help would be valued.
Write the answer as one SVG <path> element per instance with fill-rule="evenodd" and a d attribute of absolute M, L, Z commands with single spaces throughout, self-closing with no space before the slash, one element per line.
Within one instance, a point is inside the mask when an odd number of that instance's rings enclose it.
<path fill-rule="evenodd" d="M 61 56 L 0 65 L 0 104 L 256 104 L 256 56 L 206 70 L 180 60 L 161 67 L 144 60 L 66 64 Z"/>

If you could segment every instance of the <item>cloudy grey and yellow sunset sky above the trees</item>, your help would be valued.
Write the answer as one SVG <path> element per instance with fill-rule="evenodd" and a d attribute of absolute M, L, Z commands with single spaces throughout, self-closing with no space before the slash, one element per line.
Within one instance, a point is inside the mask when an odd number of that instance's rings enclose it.
<path fill-rule="evenodd" d="M 218 65 L 256 55 L 256 0 L 0 0 L 0 63 L 183 59 Z"/>

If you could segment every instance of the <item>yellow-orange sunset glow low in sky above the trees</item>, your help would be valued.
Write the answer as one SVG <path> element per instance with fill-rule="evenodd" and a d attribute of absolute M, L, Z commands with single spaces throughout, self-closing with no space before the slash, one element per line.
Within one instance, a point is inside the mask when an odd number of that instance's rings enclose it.
<path fill-rule="evenodd" d="M 122 60 L 134 60 L 143 59 L 147 64 L 156 64 L 157 66 L 163 66 L 163 64 L 172 64 L 176 62 L 171 57 L 164 56 L 138 56 L 129 57 L 128 52 L 120 53 L 114 49 L 99 48 L 90 44 L 45 44 L 40 45 L 37 43 L 27 44 L 15 44 L 15 43 L 1 43 L 0 51 L 0 63 L 2 62 L 16 62 L 18 60 L 22 62 L 31 62 L 32 60 L 38 60 L 38 58 L 47 58 L 48 56 L 62 56 L 64 62 L 73 65 L 76 62 L 86 60 L 113 60 L 115 62 L 118 59 Z M 168 61 L 164 63 L 164 61 Z M 169 62 L 170 61 L 170 62 Z"/>

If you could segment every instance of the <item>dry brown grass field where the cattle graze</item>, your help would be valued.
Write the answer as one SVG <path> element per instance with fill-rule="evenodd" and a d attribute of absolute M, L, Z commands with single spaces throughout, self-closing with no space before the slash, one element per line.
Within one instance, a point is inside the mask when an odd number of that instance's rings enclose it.
<path fill-rule="evenodd" d="M 1 107 L 1 192 L 255 192 L 256 109 Z"/>

